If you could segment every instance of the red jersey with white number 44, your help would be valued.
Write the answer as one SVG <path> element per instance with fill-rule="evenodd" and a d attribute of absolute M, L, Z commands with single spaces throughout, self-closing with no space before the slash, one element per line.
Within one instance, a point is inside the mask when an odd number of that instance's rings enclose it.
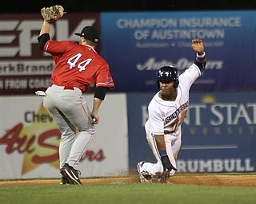
<path fill-rule="evenodd" d="M 46 53 L 54 57 L 51 82 L 58 86 L 74 86 L 85 91 L 90 84 L 114 88 L 107 62 L 89 45 L 73 41 L 47 41 Z"/>

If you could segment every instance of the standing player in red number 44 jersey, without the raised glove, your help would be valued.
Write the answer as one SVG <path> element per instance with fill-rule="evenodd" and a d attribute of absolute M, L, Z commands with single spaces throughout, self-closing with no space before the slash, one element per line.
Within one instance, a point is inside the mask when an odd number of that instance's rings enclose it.
<path fill-rule="evenodd" d="M 94 124 L 99 122 L 98 109 L 107 90 L 114 88 L 114 81 L 109 65 L 95 51 L 97 29 L 86 26 L 81 33 L 74 33 L 80 37 L 79 44 L 50 40 L 49 32 L 50 22 L 44 21 L 38 45 L 54 57 L 55 67 L 43 105 L 62 133 L 59 144 L 61 184 L 81 185 L 78 177 L 81 173 L 75 167 L 94 137 Z M 90 84 L 96 84 L 91 112 L 82 97 Z"/>

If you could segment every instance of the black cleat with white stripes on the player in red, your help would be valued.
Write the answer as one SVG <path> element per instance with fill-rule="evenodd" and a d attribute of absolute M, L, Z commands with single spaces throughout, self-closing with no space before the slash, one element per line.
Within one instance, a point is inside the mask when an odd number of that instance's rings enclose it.
<path fill-rule="evenodd" d="M 79 179 L 79 175 L 81 175 L 81 172 L 78 170 L 75 170 L 73 167 L 70 167 L 67 163 L 64 164 L 64 166 L 60 170 L 63 177 L 69 180 L 71 184 L 78 184 L 82 185 L 82 182 Z"/>

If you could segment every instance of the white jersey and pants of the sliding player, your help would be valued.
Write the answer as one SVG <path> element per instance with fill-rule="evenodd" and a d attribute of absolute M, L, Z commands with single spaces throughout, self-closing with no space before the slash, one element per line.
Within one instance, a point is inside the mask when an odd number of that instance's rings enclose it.
<path fill-rule="evenodd" d="M 144 163 L 141 171 L 150 175 L 157 175 L 163 171 L 161 155 L 159 154 L 154 135 L 164 135 L 166 143 L 166 154 L 170 163 L 176 167 L 178 151 L 181 147 L 181 124 L 185 119 L 189 107 L 190 87 L 201 75 L 197 65 L 193 64 L 189 69 L 179 76 L 178 94 L 175 101 L 162 100 L 157 92 L 150 101 L 148 111 L 149 120 L 146 121 L 146 137 L 158 163 Z M 170 175 L 174 175 L 171 171 Z"/>

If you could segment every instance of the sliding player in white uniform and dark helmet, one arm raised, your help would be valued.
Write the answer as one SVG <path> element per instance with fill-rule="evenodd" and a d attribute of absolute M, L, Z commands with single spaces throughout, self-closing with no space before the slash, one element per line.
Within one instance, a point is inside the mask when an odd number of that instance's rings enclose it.
<path fill-rule="evenodd" d="M 138 163 L 141 182 L 158 179 L 166 182 L 177 171 L 176 160 L 182 143 L 181 124 L 189 107 L 190 87 L 201 76 L 206 66 L 206 53 L 202 40 L 192 40 L 196 52 L 194 64 L 178 76 L 173 66 L 164 66 L 157 73 L 157 92 L 148 106 L 149 120 L 146 121 L 146 139 L 157 163 Z"/>

